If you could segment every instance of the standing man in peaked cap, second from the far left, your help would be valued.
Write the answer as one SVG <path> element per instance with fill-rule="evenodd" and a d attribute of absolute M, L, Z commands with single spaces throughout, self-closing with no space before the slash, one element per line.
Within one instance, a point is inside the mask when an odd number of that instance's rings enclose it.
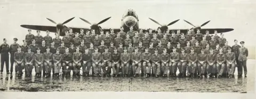
<path fill-rule="evenodd" d="M 12 71 L 13 71 L 13 64 L 14 64 L 14 53 L 18 51 L 18 46 L 20 46 L 19 44 L 17 44 L 17 38 L 13 38 L 13 44 L 11 44 L 10 46 L 10 54 L 11 54 L 11 74 L 12 74 Z M 15 72 L 18 72 L 18 67 L 15 65 Z M 8 68 L 8 72 L 7 74 L 9 74 L 9 68 Z"/>

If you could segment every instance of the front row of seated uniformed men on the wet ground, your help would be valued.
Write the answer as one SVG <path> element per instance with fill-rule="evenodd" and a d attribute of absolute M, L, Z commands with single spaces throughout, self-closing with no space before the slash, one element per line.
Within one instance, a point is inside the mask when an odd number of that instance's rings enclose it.
<path fill-rule="evenodd" d="M 31 76 L 33 67 L 35 66 L 36 77 L 43 76 L 50 77 L 53 71 L 54 77 L 59 77 L 60 69 L 62 67 L 63 76 L 70 76 L 73 70 L 73 76 L 81 76 L 80 68 L 82 67 L 83 76 L 90 76 L 89 72 L 92 68 L 93 76 L 101 76 L 100 71 L 103 70 L 103 77 L 110 76 L 111 68 L 113 69 L 113 76 L 119 76 L 119 70 L 122 70 L 122 76 L 127 77 L 129 74 L 129 67 L 133 72 L 134 77 L 138 77 L 140 70 L 144 77 L 150 76 L 152 69 L 152 76 L 167 77 L 167 71 L 170 71 L 171 77 L 176 77 L 177 68 L 179 69 L 179 77 L 186 77 L 186 72 L 189 77 L 234 77 L 235 72 L 235 54 L 228 48 L 228 53 L 223 53 L 220 48 L 219 53 L 215 54 L 211 48 L 210 53 L 204 53 L 204 49 L 200 54 L 194 53 L 194 48 L 191 48 L 191 53 L 185 53 L 182 48 L 181 53 L 176 52 L 173 47 L 172 53 L 167 53 L 166 48 L 163 53 L 158 54 L 157 48 L 155 53 L 149 53 L 149 48 L 145 48 L 145 52 L 140 53 L 138 47 L 135 47 L 133 53 L 128 53 L 127 48 L 124 47 L 123 53 L 118 53 L 117 48 L 114 48 L 113 54 L 105 47 L 105 52 L 99 53 L 98 48 L 94 48 L 94 53 L 89 52 L 89 48 L 85 48 L 84 53 L 79 52 L 79 47 L 76 52 L 70 53 L 69 48 L 66 48 L 65 53 L 60 54 L 60 49 L 52 54 L 50 47 L 46 47 L 45 53 L 40 53 L 41 49 L 37 48 L 37 53 L 21 51 L 18 46 L 18 51 L 14 53 L 15 65 L 18 68 L 18 77 L 22 76 L 22 70 L 25 68 L 26 77 Z M 241 59 L 241 58 L 239 58 Z M 246 63 L 245 63 L 246 64 Z M 107 69 L 106 69 L 107 68 Z M 245 65 L 245 71 L 246 65 Z M 246 72 L 245 72 L 246 77 Z"/>

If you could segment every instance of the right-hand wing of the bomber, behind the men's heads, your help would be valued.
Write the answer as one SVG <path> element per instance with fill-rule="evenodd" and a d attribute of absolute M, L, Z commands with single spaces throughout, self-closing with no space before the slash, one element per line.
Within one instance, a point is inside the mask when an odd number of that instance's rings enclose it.
<path fill-rule="evenodd" d="M 170 32 L 174 30 L 175 33 L 177 32 L 178 29 L 170 29 Z M 231 28 L 216 28 L 216 29 L 200 29 L 200 32 L 201 34 L 205 35 L 206 34 L 206 30 L 209 31 L 210 34 L 214 34 L 214 30 L 217 30 L 218 33 L 221 33 L 221 32 L 228 32 L 228 31 L 233 31 L 234 29 L 231 29 Z M 185 35 L 187 34 L 188 32 L 188 29 L 180 29 L 180 32 L 183 32 Z M 195 31 L 196 33 L 196 31 Z"/>

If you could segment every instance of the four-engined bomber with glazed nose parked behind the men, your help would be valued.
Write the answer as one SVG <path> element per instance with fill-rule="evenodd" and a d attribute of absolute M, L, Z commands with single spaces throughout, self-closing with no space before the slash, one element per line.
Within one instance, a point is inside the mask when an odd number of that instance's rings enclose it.
<path fill-rule="evenodd" d="M 75 18 L 75 17 L 74 17 Z M 56 26 L 37 26 L 37 25 L 28 25 L 28 24 L 22 24 L 21 27 L 23 28 L 27 28 L 27 29 L 33 29 L 33 30 L 40 30 L 40 31 L 46 31 L 49 30 L 50 32 L 56 32 L 58 34 L 60 34 L 60 36 L 65 36 L 65 31 L 68 30 L 69 28 L 73 29 L 73 32 L 80 32 L 80 29 L 84 29 L 84 30 L 91 30 L 94 29 L 96 34 L 100 33 L 100 30 L 102 29 L 99 25 L 106 22 L 109 18 L 106 18 L 98 23 L 91 23 L 83 18 L 79 18 L 81 20 L 83 20 L 84 22 L 91 24 L 90 28 L 80 28 L 80 27 L 68 27 L 65 24 L 70 22 L 71 20 L 73 20 L 74 18 L 68 19 L 67 21 L 63 22 L 63 23 L 56 23 L 55 21 L 46 18 L 47 20 L 51 21 L 52 23 L 56 24 Z M 155 21 L 154 19 L 149 18 L 151 21 L 159 24 L 159 27 L 157 27 L 158 29 L 161 29 L 161 31 L 165 32 L 168 28 L 168 26 L 171 26 L 172 24 L 174 24 L 175 22 L 179 21 L 175 20 L 169 24 L 160 24 L 159 22 Z M 207 21 L 205 23 L 203 23 L 201 26 L 195 26 L 194 24 L 184 20 L 185 22 L 187 22 L 188 24 L 190 24 L 191 26 L 193 26 L 190 29 L 179 29 L 180 32 L 183 32 L 184 34 L 186 34 L 186 32 L 188 30 L 194 31 L 196 29 L 200 29 L 201 33 L 204 35 L 205 31 L 208 30 L 210 32 L 210 34 L 214 34 L 214 30 L 217 30 L 219 33 L 221 32 L 228 32 L 228 31 L 232 31 L 234 29 L 231 28 L 211 28 L 211 29 L 207 29 L 207 28 L 201 28 L 203 26 L 205 26 L 205 24 L 209 23 L 210 21 Z M 143 28 L 139 28 L 139 18 L 137 13 L 132 10 L 129 9 L 127 11 L 125 11 L 125 13 L 122 16 L 121 19 L 121 26 L 124 28 L 124 32 L 127 32 L 130 30 L 130 27 L 133 27 L 134 30 L 139 31 L 139 29 L 142 29 L 143 31 L 148 31 L 148 29 L 143 29 Z M 120 31 L 120 28 L 112 28 L 114 29 L 114 32 L 118 32 Z M 109 31 L 109 29 L 103 29 L 104 31 Z M 170 31 L 172 30 L 178 30 L 178 29 L 169 29 Z"/>

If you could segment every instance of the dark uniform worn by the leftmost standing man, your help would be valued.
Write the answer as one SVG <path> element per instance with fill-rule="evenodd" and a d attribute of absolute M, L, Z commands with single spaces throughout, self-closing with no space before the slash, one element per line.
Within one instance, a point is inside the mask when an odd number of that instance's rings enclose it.
<path fill-rule="evenodd" d="M 5 40 L 5 39 L 4 39 Z M 8 44 L 2 44 L 0 46 L 0 53 L 1 53 L 1 73 L 4 70 L 4 63 L 6 67 L 6 72 L 9 72 L 9 45 Z"/>

